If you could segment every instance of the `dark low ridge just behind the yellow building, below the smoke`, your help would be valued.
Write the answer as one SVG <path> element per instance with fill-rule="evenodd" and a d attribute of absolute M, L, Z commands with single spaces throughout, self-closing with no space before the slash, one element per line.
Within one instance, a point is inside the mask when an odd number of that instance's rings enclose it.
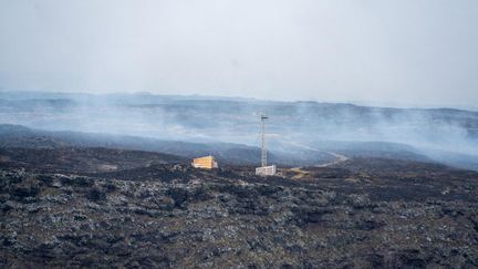
<path fill-rule="evenodd" d="M 221 163 L 226 164 L 258 165 L 260 163 L 260 148 L 242 144 L 218 142 L 191 143 L 113 134 L 51 132 L 10 124 L 0 124 L 1 147 L 43 149 L 106 147 L 166 153 L 189 159 L 212 154 Z M 329 162 L 332 158 L 333 156 L 325 152 L 310 149 L 288 153 L 269 152 L 270 162 L 285 166 L 312 165 Z"/>

